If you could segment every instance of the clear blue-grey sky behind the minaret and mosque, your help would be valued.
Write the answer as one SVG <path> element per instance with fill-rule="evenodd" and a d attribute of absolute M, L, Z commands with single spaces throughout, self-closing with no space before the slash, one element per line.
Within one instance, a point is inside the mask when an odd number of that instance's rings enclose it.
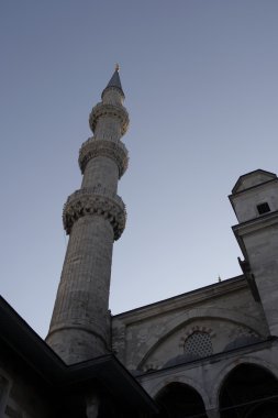
<path fill-rule="evenodd" d="M 131 125 L 118 314 L 238 275 L 227 195 L 278 172 L 277 0 L 1 0 L 2 296 L 45 337 L 88 114 L 116 62 Z"/>

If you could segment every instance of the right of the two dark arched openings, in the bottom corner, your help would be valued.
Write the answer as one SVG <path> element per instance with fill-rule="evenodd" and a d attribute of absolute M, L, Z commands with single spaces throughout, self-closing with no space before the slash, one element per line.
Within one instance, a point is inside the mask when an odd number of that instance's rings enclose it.
<path fill-rule="evenodd" d="M 266 369 L 241 364 L 220 392 L 221 418 L 278 418 L 278 382 Z"/>

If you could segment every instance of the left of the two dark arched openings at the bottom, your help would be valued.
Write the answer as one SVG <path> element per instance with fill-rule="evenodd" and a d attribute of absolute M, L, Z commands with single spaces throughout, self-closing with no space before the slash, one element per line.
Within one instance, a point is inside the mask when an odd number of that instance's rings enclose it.
<path fill-rule="evenodd" d="M 207 418 L 201 396 L 184 383 L 168 384 L 155 400 L 160 407 L 159 418 Z"/>

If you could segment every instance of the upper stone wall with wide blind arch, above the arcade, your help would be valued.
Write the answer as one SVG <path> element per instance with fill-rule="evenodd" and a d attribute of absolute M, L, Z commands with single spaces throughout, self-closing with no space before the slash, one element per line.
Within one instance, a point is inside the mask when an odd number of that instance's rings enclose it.
<path fill-rule="evenodd" d="M 118 315 L 112 330 L 113 349 L 131 371 L 159 370 L 185 354 L 202 356 L 193 340 L 186 346 L 193 333 L 204 344 L 203 356 L 210 343 L 215 354 L 269 334 L 243 276 Z"/>

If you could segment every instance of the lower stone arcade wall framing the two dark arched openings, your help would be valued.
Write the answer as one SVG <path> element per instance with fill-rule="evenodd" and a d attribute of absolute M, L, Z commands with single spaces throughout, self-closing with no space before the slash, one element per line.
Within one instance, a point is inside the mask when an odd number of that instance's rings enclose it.
<path fill-rule="evenodd" d="M 219 398 L 222 385 L 230 372 L 241 364 L 252 364 L 270 372 L 278 378 L 278 345 L 262 343 L 226 352 L 199 362 L 167 367 L 146 373 L 138 377 L 140 383 L 156 398 L 157 394 L 170 383 L 181 383 L 194 388 L 201 396 L 208 417 L 219 418 Z"/>

